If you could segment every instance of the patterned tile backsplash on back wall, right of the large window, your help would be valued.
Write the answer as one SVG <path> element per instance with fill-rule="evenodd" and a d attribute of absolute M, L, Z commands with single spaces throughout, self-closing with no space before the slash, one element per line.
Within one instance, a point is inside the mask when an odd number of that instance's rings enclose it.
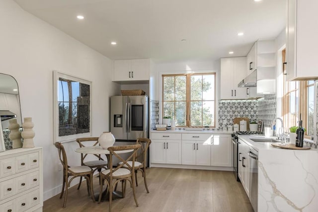
<path fill-rule="evenodd" d="M 219 128 L 233 125 L 234 118 L 246 117 L 257 120 L 257 100 L 220 100 L 219 101 Z"/>

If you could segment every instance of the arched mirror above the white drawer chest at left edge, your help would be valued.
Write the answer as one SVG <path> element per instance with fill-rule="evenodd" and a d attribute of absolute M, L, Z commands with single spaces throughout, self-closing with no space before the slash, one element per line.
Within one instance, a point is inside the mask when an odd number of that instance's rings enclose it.
<path fill-rule="evenodd" d="M 17 124 L 20 126 L 18 130 L 22 131 L 22 116 L 18 83 L 15 78 L 4 73 L 0 73 L 0 117 L 2 128 L 1 133 L 5 150 L 22 147 L 21 139 L 15 140 L 18 143 L 15 143 L 12 146 L 12 141 L 9 138 L 10 130 L 8 129 L 10 120 L 16 119 Z M 1 148 L 0 146 L 0 150 L 2 149 L 4 148 Z"/>

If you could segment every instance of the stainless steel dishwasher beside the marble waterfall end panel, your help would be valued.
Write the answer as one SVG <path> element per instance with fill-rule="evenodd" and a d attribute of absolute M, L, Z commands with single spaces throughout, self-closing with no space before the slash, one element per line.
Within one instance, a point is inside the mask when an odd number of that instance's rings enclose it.
<path fill-rule="evenodd" d="M 258 152 L 249 147 L 248 158 L 250 164 L 249 170 L 249 201 L 253 207 L 254 212 L 257 212 L 257 198 L 258 198 Z"/>

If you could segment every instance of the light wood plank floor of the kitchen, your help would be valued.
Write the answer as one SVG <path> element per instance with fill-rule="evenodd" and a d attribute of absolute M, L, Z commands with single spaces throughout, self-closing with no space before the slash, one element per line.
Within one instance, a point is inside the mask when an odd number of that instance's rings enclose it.
<path fill-rule="evenodd" d="M 136 207 L 132 189 L 126 198 L 112 202 L 113 212 L 253 212 L 244 189 L 233 172 L 192 169 L 148 168 L 147 194 L 141 173 Z M 120 186 L 119 186 L 120 189 Z M 99 191 L 94 177 L 94 191 Z M 64 198 L 64 197 L 63 197 Z M 108 202 L 93 203 L 87 196 L 86 184 L 69 190 L 66 208 L 59 195 L 44 202 L 44 212 L 107 212 Z"/>

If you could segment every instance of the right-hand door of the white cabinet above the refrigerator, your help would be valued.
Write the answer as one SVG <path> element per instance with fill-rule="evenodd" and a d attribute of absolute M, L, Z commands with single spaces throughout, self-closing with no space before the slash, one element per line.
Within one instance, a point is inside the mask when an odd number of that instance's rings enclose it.
<path fill-rule="evenodd" d="M 131 60 L 131 80 L 149 80 L 149 59 Z"/>

